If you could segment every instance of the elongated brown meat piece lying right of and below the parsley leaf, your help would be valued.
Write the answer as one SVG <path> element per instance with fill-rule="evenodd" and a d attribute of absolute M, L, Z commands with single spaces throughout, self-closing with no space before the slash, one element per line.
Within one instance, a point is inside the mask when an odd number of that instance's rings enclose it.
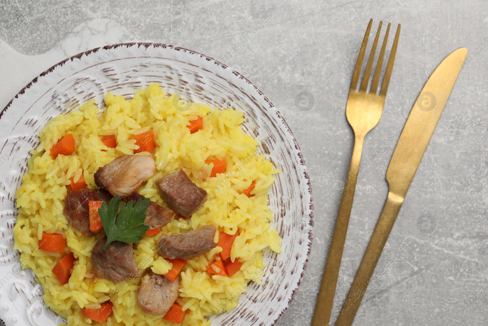
<path fill-rule="evenodd" d="M 158 251 L 164 258 L 189 260 L 203 255 L 217 246 L 213 238 L 217 228 L 204 225 L 196 230 L 178 235 L 163 234 L 158 242 Z"/>

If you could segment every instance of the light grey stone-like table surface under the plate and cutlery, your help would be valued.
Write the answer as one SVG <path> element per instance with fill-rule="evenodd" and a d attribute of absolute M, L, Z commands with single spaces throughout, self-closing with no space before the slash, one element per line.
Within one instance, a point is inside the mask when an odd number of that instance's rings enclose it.
<path fill-rule="evenodd" d="M 366 169 L 357 182 L 333 317 L 339 314 L 386 200 L 386 169 L 408 113 L 442 59 L 458 47 L 468 47 L 470 60 L 447 102 L 379 264 L 394 262 L 379 271 L 381 276 L 368 288 L 354 325 L 488 325 L 488 2 L 0 3 L 1 34 L 28 15 L 8 38 L 23 54 L 49 50 L 88 20 L 109 18 L 130 31 L 150 13 L 143 28 L 134 32 L 137 40 L 182 46 L 221 60 L 275 104 L 305 156 L 315 206 L 305 277 L 279 326 L 311 323 L 352 153 L 354 136 L 345 108 L 355 49 L 369 19 L 374 19 L 374 27 L 388 19 L 393 32 L 401 23 L 402 31 L 383 116 L 366 136 L 362 159 Z M 263 24 L 266 16 L 269 19 Z M 249 32 L 252 37 L 245 43 L 243 36 Z M 238 43 L 242 48 L 234 50 Z M 303 91 L 312 94 L 315 102 L 307 112 L 295 104 Z M 393 141 L 380 147 L 388 139 Z M 431 216 L 433 224 L 427 231 L 432 233 L 426 234 L 427 224 L 424 229 L 418 226 L 424 214 Z"/>

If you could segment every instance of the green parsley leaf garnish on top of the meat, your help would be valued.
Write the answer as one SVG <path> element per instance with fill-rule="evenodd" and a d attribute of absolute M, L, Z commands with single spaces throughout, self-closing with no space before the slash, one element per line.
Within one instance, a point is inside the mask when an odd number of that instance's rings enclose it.
<path fill-rule="evenodd" d="M 123 203 L 119 211 L 119 195 L 115 195 L 108 205 L 102 202 L 102 208 L 98 210 L 102 220 L 103 229 L 107 234 L 106 249 L 112 241 L 137 242 L 146 234 L 149 226 L 144 225 L 146 215 L 144 212 L 149 205 L 149 198 L 139 199 L 136 204 L 129 200 Z M 117 211 L 119 214 L 117 215 Z"/>

